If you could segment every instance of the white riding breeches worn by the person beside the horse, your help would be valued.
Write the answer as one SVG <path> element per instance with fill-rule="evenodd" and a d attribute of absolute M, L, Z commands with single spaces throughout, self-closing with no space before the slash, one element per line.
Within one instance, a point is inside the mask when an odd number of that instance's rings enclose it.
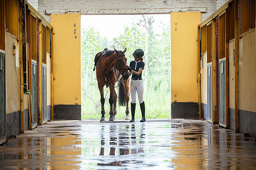
<path fill-rule="evenodd" d="M 136 103 L 136 92 L 138 94 L 139 104 L 143 103 L 143 80 L 131 80 L 131 103 Z"/>

